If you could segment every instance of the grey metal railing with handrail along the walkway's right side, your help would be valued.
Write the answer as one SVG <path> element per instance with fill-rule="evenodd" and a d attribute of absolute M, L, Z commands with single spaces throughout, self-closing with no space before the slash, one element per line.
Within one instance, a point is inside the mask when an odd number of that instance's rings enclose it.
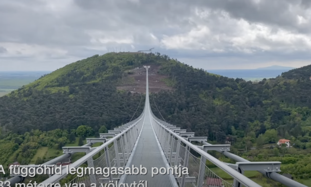
<path fill-rule="evenodd" d="M 206 166 L 206 161 L 209 160 L 217 167 L 224 170 L 239 183 L 245 187 L 261 187 L 254 181 L 245 177 L 237 170 L 230 168 L 225 163 L 219 161 L 215 157 L 211 156 L 204 150 L 201 150 L 197 146 L 191 144 L 185 138 L 179 136 L 174 131 L 179 131 L 180 128 L 173 127 L 171 124 L 165 123 L 154 116 L 155 131 L 162 146 L 164 154 L 171 166 L 187 167 L 189 169 L 189 176 L 183 175 L 181 178 L 177 178 L 180 187 L 208 187 L 208 186 L 220 186 L 220 187 L 238 187 L 234 184 L 230 184 L 217 176 Z M 174 129 L 173 131 L 171 129 Z M 185 130 L 181 130 L 180 133 L 187 133 Z M 189 133 L 192 135 L 193 133 Z M 191 139 L 191 136 L 190 136 Z M 194 137 L 193 141 L 206 141 L 207 137 Z M 211 149 L 214 150 L 214 149 Z M 199 157 L 191 154 L 194 151 Z"/>

